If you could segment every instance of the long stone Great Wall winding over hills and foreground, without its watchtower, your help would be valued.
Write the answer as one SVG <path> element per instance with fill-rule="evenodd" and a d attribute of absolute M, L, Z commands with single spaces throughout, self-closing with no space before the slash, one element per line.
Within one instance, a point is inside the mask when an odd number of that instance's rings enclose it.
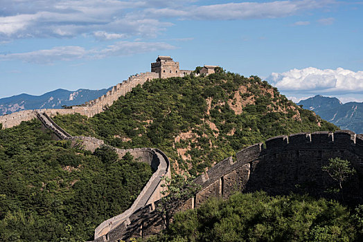
<path fill-rule="evenodd" d="M 177 67 L 179 68 L 179 63 Z M 0 122 L 3 123 L 3 128 L 8 128 L 37 117 L 59 138 L 82 140 L 86 149 L 94 151 L 104 145 L 103 140 L 70 136 L 57 126 L 50 116 L 57 113 L 81 113 L 91 117 L 102 112 L 105 105 L 112 104 L 118 97 L 131 91 L 132 87 L 159 78 L 160 75 L 160 72 L 155 72 L 130 77 L 123 82 L 124 84 L 115 86 L 107 95 L 84 106 L 74 106 L 72 109 L 21 111 L 13 116 L 2 117 Z M 131 237 L 145 237 L 157 234 L 163 229 L 163 221 L 156 207 L 161 196 L 161 176 L 170 176 L 168 158 L 159 149 L 115 150 L 120 157 L 129 151 L 135 158 L 140 158 L 140 161 L 148 162 L 155 172 L 129 210 L 109 218 L 96 228 L 94 242 L 116 242 Z M 335 194 L 326 193 L 326 189 L 333 185 L 333 180 L 321 170 L 329 158 L 335 157 L 349 160 L 357 170 L 357 174 L 347 185 L 349 193 L 346 194 L 346 201 L 362 203 L 363 135 L 352 131 L 326 131 L 278 136 L 238 151 L 236 160 L 231 157 L 222 160 L 195 179 L 195 183 L 201 185 L 202 189 L 186 201 L 182 209 L 193 209 L 211 197 L 227 198 L 236 191 L 254 192 L 260 189 L 268 194 L 295 192 L 337 198 Z"/>

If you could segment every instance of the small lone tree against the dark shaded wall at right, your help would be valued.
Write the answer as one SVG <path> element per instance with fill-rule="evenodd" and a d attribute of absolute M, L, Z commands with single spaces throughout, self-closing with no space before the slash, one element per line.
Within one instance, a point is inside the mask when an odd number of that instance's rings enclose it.
<path fill-rule="evenodd" d="M 350 167 L 350 165 L 351 162 L 349 162 L 348 160 L 342 160 L 341 158 L 336 157 L 330 158 L 329 165 L 325 165 L 321 167 L 321 169 L 328 172 L 329 176 L 333 178 L 333 180 L 337 181 L 337 183 L 339 184 L 339 190 L 342 192 L 342 183 L 344 183 L 345 180 L 353 176 L 356 172 L 354 168 Z"/>

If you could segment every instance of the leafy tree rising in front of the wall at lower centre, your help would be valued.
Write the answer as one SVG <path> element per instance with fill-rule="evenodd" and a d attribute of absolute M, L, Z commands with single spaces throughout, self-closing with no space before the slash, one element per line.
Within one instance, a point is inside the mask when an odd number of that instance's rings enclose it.
<path fill-rule="evenodd" d="M 164 176 L 161 187 L 165 187 L 161 192 L 163 198 L 157 207 L 166 228 L 169 227 L 170 220 L 175 212 L 179 211 L 182 205 L 193 197 L 200 190 L 200 185 L 193 181 L 193 176 L 184 177 L 180 174 L 173 178 Z"/>

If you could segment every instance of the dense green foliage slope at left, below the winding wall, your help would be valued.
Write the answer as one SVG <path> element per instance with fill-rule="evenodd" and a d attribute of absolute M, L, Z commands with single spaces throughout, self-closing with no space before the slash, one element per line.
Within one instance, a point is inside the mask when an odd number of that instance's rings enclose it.
<path fill-rule="evenodd" d="M 77 146 L 76 146 L 77 147 Z M 86 241 L 152 175 L 132 156 L 51 138 L 37 120 L 0 131 L 0 241 Z"/>

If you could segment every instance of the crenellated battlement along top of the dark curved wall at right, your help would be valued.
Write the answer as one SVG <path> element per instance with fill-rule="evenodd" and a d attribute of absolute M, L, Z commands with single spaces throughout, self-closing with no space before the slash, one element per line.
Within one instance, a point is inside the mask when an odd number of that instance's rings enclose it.
<path fill-rule="evenodd" d="M 258 143 L 238 151 L 236 153 L 236 162 L 233 162 L 231 157 L 222 160 L 206 171 L 206 174 L 196 178 L 195 182 L 206 187 L 236 167 L 245 165 L 248 162 L 254 162 L 254 160 L 258 160 L 262 156 L 299 149 L 309 149 L 312 151 L 322 149 L 348 149 L 348 151 L 352 151 L 357 157 L 360 157 L 360 160 L 354 162 L 355 167 L 363 168 L 363 135 L 356 135 L 353 131 L 349 130 L 336 131 L 335 133 L 321 131 L 314 133 L 295 133 L 290 136 L 276 136 L 266 140 L 265 145 L 266 147 L 264 148 L 263 143 Z M 208 177 L 208 179 L 205 177 Z"/>

